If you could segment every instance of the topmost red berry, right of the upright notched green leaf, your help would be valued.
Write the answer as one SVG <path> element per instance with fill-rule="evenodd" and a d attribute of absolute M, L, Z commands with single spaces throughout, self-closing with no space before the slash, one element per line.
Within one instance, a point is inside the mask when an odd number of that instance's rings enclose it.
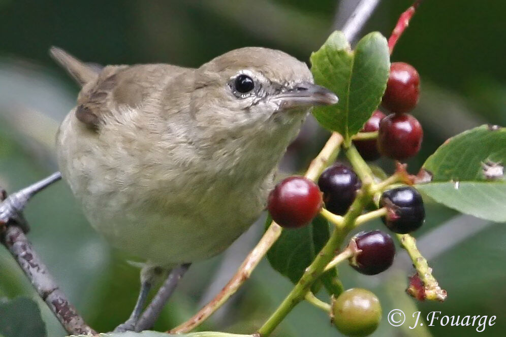
<path fill-rule="evenodd" d="M 404 62 L 392 63 L 382 105 L 392 112 L 404 113 L 415 108 L 419 96 L 420 75 L 417 70 Z"/>

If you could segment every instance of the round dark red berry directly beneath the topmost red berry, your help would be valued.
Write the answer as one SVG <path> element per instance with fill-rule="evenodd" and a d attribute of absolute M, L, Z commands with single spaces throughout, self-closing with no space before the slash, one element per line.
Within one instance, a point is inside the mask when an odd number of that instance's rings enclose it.
<path fill-rule="evenodd" d="M 384 156 L 403 160 L 420 151 L 423 129 L 409 114 L 390 114 L 379 122 L 378 150 Z"/>

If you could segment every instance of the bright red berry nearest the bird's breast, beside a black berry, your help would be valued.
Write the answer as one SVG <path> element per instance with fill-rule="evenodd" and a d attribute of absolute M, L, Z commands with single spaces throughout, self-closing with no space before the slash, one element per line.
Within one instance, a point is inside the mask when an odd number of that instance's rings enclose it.
<path fill-rule="evenodd" d="M 322 207 L 318 186 L 304 177 L 289 177 L 269 194 L 267 209 L 272 219 L 282 227 L 307 225 Z"/>

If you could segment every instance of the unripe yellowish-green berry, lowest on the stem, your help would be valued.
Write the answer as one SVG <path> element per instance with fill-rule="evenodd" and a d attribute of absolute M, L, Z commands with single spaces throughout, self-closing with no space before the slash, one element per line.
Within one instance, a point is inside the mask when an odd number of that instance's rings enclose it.
<path fill-rule="evenodd" d="M 332 305 L 334 325 L 346 336 L 361 337 L 374 332 L 381 321 L 379 299 L 361 288 L 348 289 Z"/>

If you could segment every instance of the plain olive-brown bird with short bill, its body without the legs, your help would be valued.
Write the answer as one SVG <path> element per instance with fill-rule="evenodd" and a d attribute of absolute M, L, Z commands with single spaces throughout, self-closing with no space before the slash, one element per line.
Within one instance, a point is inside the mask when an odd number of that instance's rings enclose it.
<path fill-rule="evenodd" d="M 50 52 L 82 86 L 56 137 L 62 177 L 108 242 L 166 268 L 239 237 L 310 107 L 337 103 L 278 50 L 236 49 L 197 69 L 97 69 Z"/>

